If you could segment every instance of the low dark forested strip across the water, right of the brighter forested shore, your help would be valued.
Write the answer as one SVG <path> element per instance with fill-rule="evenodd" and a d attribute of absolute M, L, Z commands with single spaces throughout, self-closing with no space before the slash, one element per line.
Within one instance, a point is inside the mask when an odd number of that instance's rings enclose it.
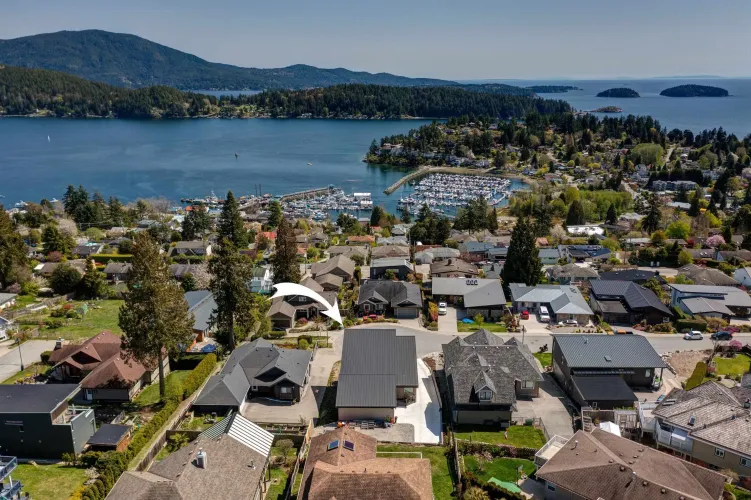
<path fill-rule="evenodd" d="M 566 113 L 568 103 L 539 97 L 471 92 L 452 87 L 336 85 L 323 89 L 267 91 L 223 97 L 220 104 L 252 105 L 273 117 L 434 117 L 488 115 L 510 119 L 536 112 Z"/>

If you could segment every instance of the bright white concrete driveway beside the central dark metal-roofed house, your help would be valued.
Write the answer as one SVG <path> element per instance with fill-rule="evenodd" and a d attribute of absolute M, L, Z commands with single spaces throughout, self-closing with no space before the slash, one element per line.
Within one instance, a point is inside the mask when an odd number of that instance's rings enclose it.
<path fill-rule="evenodd" d="M 430 379 L 430 369 L 421 359 L 417 360 L 417 378 L 419 385 L 415 402 L 397 407 L 394 416 L 398 424 L 412 424 L 416 443 L 437 444 L 441 440 L 441 409 Z"/>

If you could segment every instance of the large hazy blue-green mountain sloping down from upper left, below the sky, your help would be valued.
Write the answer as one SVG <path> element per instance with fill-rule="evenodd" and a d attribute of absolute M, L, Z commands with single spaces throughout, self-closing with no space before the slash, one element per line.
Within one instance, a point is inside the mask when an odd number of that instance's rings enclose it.
<path fill-rule="evenodd" d="M 263 90 L 342 83 L 399 87 L 456 85 L 446 80 L 321 69 L 303 64 L 275 69 L 241 68 L 212 63 L 135 35 L 100 30 L 59 31 L 0 40 L 0 63 L 62 71 L 128 88 L 169 85 L 184 90 Z"/>

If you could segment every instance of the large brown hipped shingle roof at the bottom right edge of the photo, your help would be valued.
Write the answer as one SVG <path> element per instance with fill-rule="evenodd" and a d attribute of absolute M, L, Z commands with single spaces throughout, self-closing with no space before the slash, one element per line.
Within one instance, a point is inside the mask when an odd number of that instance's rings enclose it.
<path fill-rule="evenodd" d="M 608 500 L 717 500 L 725 483 L 717 472 L 602 429 L 578 431 L 536 475 Z"/>

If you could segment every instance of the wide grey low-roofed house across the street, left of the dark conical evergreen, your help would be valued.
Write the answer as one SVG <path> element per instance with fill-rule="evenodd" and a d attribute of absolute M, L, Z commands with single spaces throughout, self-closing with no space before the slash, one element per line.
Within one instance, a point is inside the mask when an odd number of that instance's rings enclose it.
<path fill-rule="evenodd" d="M 463 315 L 500 318 L 506 311 L 506 296 L 501 281 L 488 278 L 433 278 L 434 300 L 464 308 Z"/>

